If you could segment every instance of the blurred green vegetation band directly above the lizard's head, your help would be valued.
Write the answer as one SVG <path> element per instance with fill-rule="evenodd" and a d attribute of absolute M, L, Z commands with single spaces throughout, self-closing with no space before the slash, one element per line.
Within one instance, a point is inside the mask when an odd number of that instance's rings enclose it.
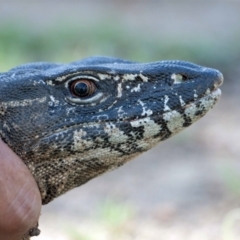
<path fill-rule="evenodd" d="M 7 24 L 0 27 L 0 71 L 26 62 L 69 62 L 93 55 L 133 61 L 180 59 L 228 70 L 239 59 L 238 43 L 237 37 L 228 45 L 206 37 L 193 36 L 187 41 L 161 35 L 143 37 L 106 23 L 87 28 L 59 24 L 38 31 Z"/>

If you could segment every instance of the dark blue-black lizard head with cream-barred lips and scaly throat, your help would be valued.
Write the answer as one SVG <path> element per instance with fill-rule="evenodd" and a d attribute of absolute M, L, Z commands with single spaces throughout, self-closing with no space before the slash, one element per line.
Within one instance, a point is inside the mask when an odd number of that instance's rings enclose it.
<path fill-rule="evenodd" d="M 203 117 L 223 75 L 185 61 L 89 57 L 23 64 L 0 73 L 0 83 L 0 136 L 47 204 Z"/>

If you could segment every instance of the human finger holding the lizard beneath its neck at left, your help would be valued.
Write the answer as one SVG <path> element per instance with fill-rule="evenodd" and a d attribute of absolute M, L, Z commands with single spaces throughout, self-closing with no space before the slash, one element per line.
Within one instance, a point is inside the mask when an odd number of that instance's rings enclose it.
<path fill-rule="evenodd" d="M 0 139 L 0 239 L 20 240 L 37 225 L 41 205 L 32 174 Z"/>

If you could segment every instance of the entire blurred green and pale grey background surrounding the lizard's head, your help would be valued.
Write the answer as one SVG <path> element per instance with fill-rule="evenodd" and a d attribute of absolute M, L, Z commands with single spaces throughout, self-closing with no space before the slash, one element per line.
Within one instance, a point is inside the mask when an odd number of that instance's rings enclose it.
<path fill-rule="evenodd" d="M 93 55 L 223 72 L 201 121 L 43 207 L 41 239 L 239 239 L 240 1 L 0 0 L 0 71 Z"/>

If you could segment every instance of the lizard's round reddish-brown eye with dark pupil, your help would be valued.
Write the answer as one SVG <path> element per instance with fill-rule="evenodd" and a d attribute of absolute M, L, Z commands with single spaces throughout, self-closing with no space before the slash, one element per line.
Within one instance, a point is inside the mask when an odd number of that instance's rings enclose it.
<path fill-rule="evenodd" d="M 70 90 L 74 96 L 89 97 L 96 91 L 96 85 L 88 79 L 77 79 L 70 84 Z"/>

